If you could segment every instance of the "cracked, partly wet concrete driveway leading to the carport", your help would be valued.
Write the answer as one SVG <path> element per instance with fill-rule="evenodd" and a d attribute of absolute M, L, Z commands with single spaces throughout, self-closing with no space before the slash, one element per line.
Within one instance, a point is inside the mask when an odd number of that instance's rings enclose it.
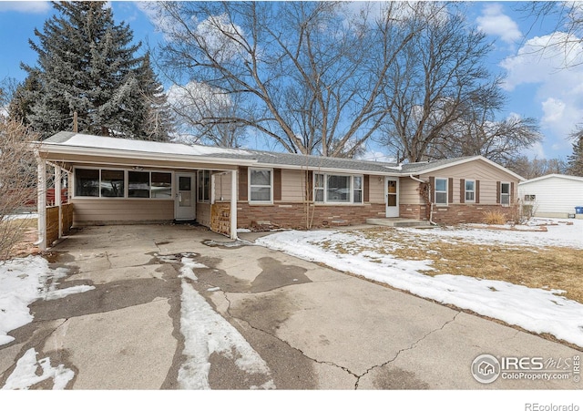
<path fill-rule="evenodd" d="M 200 227 L 85 228 L 53 259 L 69 270 L 59 287 L 96 288 L 30 306 L 0 347 L 0 386 L 35 347 L 73 389 L 581 388 L 566 367 L 578 350 Z M 482 384 L 480 354 L 542 358 L 550 376 L 515 366 Z"/>

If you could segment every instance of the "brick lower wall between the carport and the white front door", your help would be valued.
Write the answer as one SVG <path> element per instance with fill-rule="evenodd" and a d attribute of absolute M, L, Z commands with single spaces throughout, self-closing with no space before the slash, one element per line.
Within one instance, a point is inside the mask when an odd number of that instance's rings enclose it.
<path fill-rule="evenodd" d="M 366 219 L 384 218 L 384 204 L 316 205 L 310 207 L 312 228 L 364 224 Z M 237 204 L 237 227 L 271 224 L 281 228 L 305 229 L 306 210 L 302 203 L 273 205 Z"/>

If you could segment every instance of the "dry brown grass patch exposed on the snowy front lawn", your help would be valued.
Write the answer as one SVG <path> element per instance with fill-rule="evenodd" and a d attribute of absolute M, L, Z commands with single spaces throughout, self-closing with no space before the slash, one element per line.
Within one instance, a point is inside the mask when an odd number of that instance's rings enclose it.
<path fill-rule="evenodd" d="M 531 288 L 564 290 L 561 295 L 583 303 L 583 250 L 566 247 L 484 245 L 465 241 L 428 240 L 424 231 L 398 231 L 378 228 L 349 231 L 372 240 L 373 247 L 354 243 L 327 243 L 337 252 L 392 254 L 403 260 L 430 260 L 435 271 L 427 275 L 454 274 L 500 280 Z"/>

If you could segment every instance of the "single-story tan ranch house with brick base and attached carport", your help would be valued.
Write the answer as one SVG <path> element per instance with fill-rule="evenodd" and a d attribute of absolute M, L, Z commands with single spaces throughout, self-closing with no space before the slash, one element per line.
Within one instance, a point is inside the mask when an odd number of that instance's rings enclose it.
<path fill-rule="evenodd" d="M 253 226 L 476 222 L 484 211 L 509 213 L 523 180 L 481 156 L 397 165 L 72 132 L 36 151 L 41 248 L 70 226 L 94 224 L 197 221 L 234 239 Z M 53 195 L 47 207 L 50 168 L 67 204 Z"/>

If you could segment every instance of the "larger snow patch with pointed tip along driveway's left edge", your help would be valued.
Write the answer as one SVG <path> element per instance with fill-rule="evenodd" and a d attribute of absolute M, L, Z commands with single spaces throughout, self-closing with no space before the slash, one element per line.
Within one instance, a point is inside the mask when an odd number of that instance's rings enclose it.
<path fill-rule="evenodd" d="M 51 269 L 38 255 L 0 265 L 0 345 L 14 341 L 7 333 L 33 321 L 29 304 L 38 299 L 54 300 L 95 288 L 77 285 L 57 290 L 58 280 L 65 275 L 64 269 Z"/>

